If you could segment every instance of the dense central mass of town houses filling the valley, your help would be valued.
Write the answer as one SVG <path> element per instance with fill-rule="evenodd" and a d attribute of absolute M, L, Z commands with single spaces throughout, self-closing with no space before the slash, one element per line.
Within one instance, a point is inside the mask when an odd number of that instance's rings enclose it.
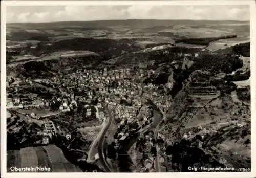
<path fill-rule="evenodd" d="M 140 107 L 141 103 L 137 99 L 142 95 L 142 91 L 147 93 L 156 93 L 157 87 L 153 84 L 144 85 L 142 83 L 134 82 L 134 77 L 132 76 L 146 76 L 154 73 L 154 70 L 137 70 L 133 71 L 127 69 L 113 69 L 108 70 L 77 70 L 76 73 L 69 75 L 55 76 L 51 79 L 41 80 L 41 83 L 47 85 L 52 85 L 55 88 L 60 88 L 63 96 L 67 98 L 74 98 L 77 102 L 86 102 L 89 105 L 93 100 L 98 100 L 98 108 L 101 108 L 104 103 L 107 103 L 115 112 L 120 115 L 120 117 L 130 118 L 134 116 L 135 111 Z M 115 86 L 112 84 L 115 83 Z M 66 90 L 62 88 L 67 88 Z M 75 95 L 73 89 L 80 93 Z M 77 92 L 76 92 L 77 93 Z M 120 105 L 120 100 L 125 100 L 131 103 L 132 106 L 126 107 L 125 105 Z M 66 101 L 65 101 L 66 102 Z M 69 109 L 69 104 L 63 103 L 60 106 L 60 110 Z M 159 102 L 159 101 L 157 101 Z M 162 105 L 160 102 L 158 105 Z M 87 115 L 91 114 L 91 110 L 87 110 Z"/>

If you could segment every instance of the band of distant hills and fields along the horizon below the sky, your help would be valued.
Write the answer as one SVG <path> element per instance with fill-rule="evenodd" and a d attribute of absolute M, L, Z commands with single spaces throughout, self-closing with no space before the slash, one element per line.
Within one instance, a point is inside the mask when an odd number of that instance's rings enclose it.
<path fill-rule="evenodd" d="M 209 38 L 226 35 L 248 36 L 249 21 L 210 20 L 99 20 L 99 21 L 57 21 L 50 23 L 7 24 L 7 39 L 47 41 L 72 37 L 136 38 L 172 37 Z M 24 34 L 18 36 L 18 34 Z M 146 34 L 146 35 L 145 35 Z M 54 35 L 54 37 L 52 37 Z M 120 36 L 121 35 L 121 36 Z M 134 37 L 134 36 L 133 36 Z M 149 38 L 150 39 L 150 38 Z M 152 38 L 151 38 L 152 39 Z M 162 40 L 163 42 L 166 40 Z"/>

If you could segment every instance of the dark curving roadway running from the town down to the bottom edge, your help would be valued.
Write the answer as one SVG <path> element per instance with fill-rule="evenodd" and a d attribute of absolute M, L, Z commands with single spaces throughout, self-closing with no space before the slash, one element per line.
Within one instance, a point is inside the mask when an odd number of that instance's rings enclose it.
<path fill-rule="evenodd" d="M 106 172 L 112 172 L 108 162 L 106 162 L 106 158 L 105 158 L 104 152 L 103 152 L 103 143 L 104 143 L 104 140 L 105 140 L 105 135 L 106 135 L 106 132 L 108 131 L 111 123 L 112 123 L 112 120 L 113 120 L 111 112 L 108 108 L 106 109 L 106 112 L 109 115 L 109 117 L 108 117 L 109 121 L 106 124 L 105 128 L 103 129 L 102 134 L 99 138 L 98 153 L 99 153 L 99 159 L 100 159 L 100 161 L 102 163 L 102 166 L 104 167 L 105 171 Z"/>

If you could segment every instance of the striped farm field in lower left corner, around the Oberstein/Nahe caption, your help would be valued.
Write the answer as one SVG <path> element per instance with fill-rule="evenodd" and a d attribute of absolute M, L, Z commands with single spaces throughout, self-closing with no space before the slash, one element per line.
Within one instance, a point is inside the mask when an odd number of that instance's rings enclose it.
<path fill-rule="evenodd" d="M 10 167 L 49 167 L 51 172 L 82 172 L 71 164 L 55 145 L 26 147 L 20 150 L 7 151 L 7 172 Z"/>

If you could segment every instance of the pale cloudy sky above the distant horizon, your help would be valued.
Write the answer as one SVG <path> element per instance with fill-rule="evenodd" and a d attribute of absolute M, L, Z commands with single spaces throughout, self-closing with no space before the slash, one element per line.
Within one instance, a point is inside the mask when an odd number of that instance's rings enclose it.
<path fill-rule="evenodd" d="M 248 5 L 7 6 L 7 23 L 108 19 L 249 20 Z"/>

